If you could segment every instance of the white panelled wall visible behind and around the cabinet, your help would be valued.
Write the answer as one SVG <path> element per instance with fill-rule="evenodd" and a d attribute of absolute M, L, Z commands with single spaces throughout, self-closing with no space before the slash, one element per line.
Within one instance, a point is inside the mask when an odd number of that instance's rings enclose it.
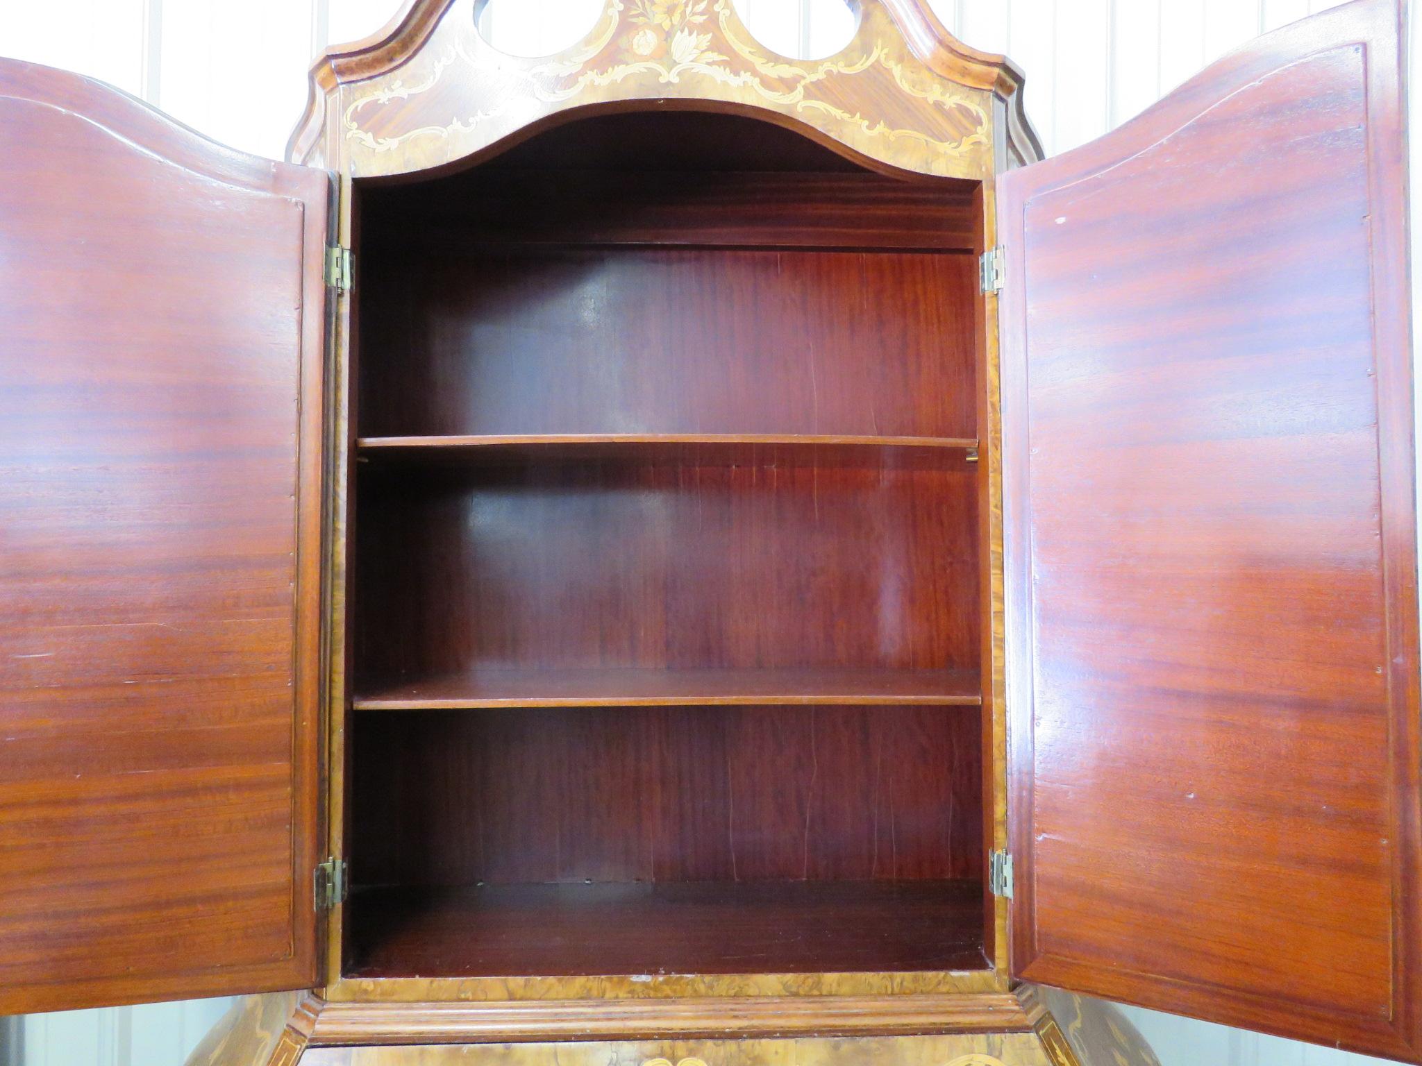
<path fill-rule="evenodd" d="M 513 0 L 489 27 L 538 51 L 593 0 Z M 766 44 L 822 50 L 840 0 L 739 0 Z M 1027 71 L 1027 112 L 1049 155 L 1142 111 L 1213 58 L 1338 0 L 930 0 L 968 44 Z M 328 43 L 384 26 L 398 0 L 0 0 L 0 55 L 109 81 L 236 148 L 280 158 Z M 522 9 L 522 10 L 520 10 Z M 501 23 L 502 20 L 502 23 Z M 1418 34 L 1415 33 L 1413 37 Z M 1413 173 L 1422 168 L 1413 166 Z M 1418 175 L 1422 178 L 1422 175 Z M 1416 190 L 1416 186 L 1415 186 Z M 1416 227 L 1415 227 L 1416 229 Z M 1422 301 L 1418 301 L 1422 307 Z M 24 1062 L 0 1066 L 176 1066 L 228 1001 L 24 1019 Z M 1344 1066 L 1379 1062 L 1128 1009 L 1165 1066 Z"/>

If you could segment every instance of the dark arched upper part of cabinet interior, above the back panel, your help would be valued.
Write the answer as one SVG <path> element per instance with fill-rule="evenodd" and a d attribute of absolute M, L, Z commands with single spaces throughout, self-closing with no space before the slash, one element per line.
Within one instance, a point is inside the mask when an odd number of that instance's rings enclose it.
<path fill-rule="evenodd" d="M 793 233 L 784 244 L 887 240 L 971 252 L 980 225 L 978 182 L 886 166 L 752 109 L 569 111 L 444 166 L 356 185 L 363 227 L 378 240 L 388 226 L 397 243 L 412 220 L 427 232 L 444 219 L 472 240 L 518 230 L 518 243 L 530 232 L 613 243 L 776 243 L 765 230 L 779 227 Z M 886 237 L 883 226 L 894 235 Z"/>

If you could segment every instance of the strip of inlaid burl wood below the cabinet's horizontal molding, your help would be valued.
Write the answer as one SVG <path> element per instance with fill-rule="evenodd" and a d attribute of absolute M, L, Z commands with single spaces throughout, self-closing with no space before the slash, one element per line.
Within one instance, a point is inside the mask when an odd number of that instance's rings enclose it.
<path fill-rule="evenodd" d="M 1032 1033 L 313 1048 L 301 1066 L 1075 1066 Z"/>

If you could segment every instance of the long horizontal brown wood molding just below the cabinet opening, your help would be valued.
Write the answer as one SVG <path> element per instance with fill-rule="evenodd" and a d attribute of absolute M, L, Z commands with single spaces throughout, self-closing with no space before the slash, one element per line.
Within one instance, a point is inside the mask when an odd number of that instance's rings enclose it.
<path fill-rule="evenodd" d="M 1011 994 L 331 1003 L 311 1045 L 1031 1032 Z"/>

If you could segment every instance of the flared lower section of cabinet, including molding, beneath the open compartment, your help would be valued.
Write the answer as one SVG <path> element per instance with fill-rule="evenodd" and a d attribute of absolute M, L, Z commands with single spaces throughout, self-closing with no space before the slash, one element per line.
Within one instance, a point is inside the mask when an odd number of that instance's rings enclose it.
<path fill-rule="evenodd" d="M 1058 1021 L 1059 1019 L 1059 1021 Z M 1109 1003 L 1054 989 L 683 1001 L 240 1001 L 188 1066 L 1159 1066 Z"/>

